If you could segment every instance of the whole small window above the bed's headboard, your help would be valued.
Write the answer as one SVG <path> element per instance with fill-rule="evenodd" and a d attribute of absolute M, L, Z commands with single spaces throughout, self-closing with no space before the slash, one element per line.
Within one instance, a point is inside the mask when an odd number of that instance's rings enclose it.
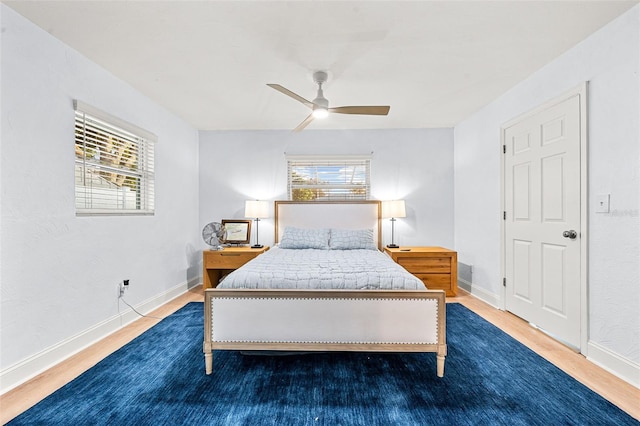
<path fill-rule="evenodd" d="M 370 196 L 370 156 L 287 156 L 289 199 L 353 201 Z"/>

